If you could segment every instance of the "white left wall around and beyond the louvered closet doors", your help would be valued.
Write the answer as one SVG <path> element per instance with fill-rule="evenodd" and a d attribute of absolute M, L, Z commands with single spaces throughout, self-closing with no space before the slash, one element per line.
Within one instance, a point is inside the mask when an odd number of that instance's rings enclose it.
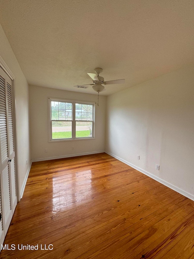
<path fill-rule="evenodd" d="M 31 161 L 29 137 L 29 92 L 28 83 L 13 53 L 7 37 L 0 25 L 0 56 L 15 76 L 17 138 L 20 191 L 24 187 L 25 177 Z M 26 159 L 28 164 L 26 164 Z"/>

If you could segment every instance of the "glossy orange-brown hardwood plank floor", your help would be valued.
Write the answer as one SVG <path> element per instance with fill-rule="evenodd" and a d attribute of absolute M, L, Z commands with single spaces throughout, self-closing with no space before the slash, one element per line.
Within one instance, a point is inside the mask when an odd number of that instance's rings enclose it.
<path fill-rule="evenodd" d="M 191 259 L 194 201 L 105 153 L 34 162 L 5 244 L 0 258 Z"/>

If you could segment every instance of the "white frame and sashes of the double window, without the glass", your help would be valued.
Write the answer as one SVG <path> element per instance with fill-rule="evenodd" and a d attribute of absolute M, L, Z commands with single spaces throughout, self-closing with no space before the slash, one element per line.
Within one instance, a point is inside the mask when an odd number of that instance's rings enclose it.
<path fill-rule="evenodd" d="M 72 103 L 72 138 L 52 138 L 52 121 L 63 121 L 63 120 L 52 120 L 52 108 L 51 108 L 51 102 L 68 102 Z M 92 113 L 92 136 L 91 137 L 82 137 L 82 138 L 76 138 L 76 121 L 75 120 L 75 103 L 78 104 L 90 104 L 93 106 L 93 113 Z M 75 140 L 89 140 L 89 139 L 95 139 L 94 132 L 95 132 L 95 102 L 88 102 L 88 101 L 79 101 L 79 100 L 70 100 L 70 99 L 62 99 L 62 98 L 55 98 L 55 97 L 48 97 L 48 107 L 49 107 L 49 142 L 58 142 L 58 141 L 75 141 Z M 65 120 L 64 120 L 65 121 Z M 80 120 L 79 120 L 80 121 Z M 84 121 L 85 122 L 85 121 Z"/>

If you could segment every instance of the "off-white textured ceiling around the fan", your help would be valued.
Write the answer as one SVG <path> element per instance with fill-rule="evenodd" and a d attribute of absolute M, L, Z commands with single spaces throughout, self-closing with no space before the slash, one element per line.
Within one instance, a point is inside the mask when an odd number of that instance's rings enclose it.
<path fill-rule="evenodd" d="M 0 22 L 32 85 L 97 94 L 73 86 L 101 67 L 109 95 L 194 63 L 193 0 L 3 0 Z"/>

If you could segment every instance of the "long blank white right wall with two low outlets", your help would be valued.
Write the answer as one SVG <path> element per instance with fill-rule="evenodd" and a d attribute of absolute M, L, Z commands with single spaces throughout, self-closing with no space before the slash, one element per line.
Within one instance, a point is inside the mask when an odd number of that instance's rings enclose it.
<path fill-rule="evenodd" d="M 194 199 L 194 66 L 112 94 L 106 117 L 108 153 Z"/>

